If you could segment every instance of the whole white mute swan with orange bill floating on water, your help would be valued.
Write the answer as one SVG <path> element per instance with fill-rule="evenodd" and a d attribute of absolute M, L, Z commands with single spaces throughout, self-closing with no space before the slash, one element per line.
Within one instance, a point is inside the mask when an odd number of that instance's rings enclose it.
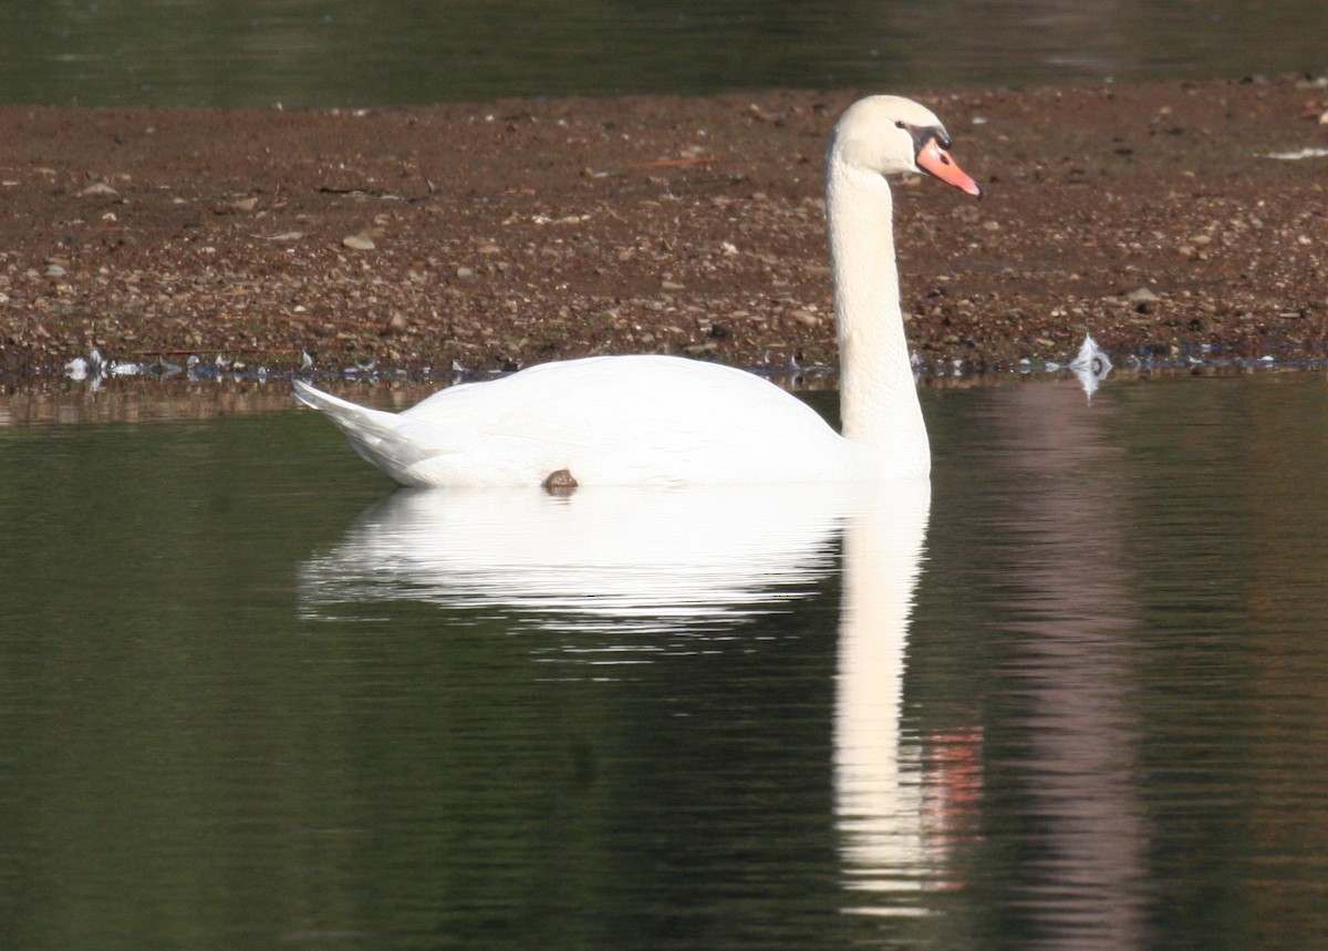
<path fill-rule="evenodd" d="M 927 429 L 899 311 L 888 175 L 926 171 L 971 195 L 950 135 L 924 106 L 871 96 L 845 110 L 826 153 L 841 352 L 835 433 L 807 404 L 732 367 L 599 356 L 450 387 L 401 413 L 303 381 L 365 460 L 408 486 L 567 487 L 926 477 Z"/>

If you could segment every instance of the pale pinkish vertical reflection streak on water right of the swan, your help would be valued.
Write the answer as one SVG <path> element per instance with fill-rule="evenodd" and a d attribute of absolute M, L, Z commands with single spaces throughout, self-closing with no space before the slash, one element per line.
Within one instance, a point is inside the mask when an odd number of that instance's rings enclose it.
<path fill-rule="evenodd" d="M 1112 408 L 1068 385 L 1012 389 L 992 405 L 1011 472 L 1038 486 L 1005 515 L 1021 614 L 1003 676 L 1025 733 L 1021 809 L 1037 818 L 1017 887 L 1038 907 L 1038 928 L 1065 947 L 1139 947 L 1151 835 L 1131 660 L 1138 584 L 1123 567 L 1110 468 L 1121 449 L 1104 436 Z"/>

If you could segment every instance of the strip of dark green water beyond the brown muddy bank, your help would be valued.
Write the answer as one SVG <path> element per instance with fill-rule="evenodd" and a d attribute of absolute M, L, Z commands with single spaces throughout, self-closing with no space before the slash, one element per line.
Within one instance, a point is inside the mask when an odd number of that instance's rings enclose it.
<path fill-rule="evenodd" d="M 371 106 L 1328 69 L 1321 0 L 16 0 L 0 102 Z"/>

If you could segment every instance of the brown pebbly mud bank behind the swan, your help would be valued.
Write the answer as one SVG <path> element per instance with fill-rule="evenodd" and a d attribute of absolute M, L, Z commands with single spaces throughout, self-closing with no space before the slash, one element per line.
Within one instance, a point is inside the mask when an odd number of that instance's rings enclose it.
<path fill-rule="evenodd" d="M 1323 353 L 1328 89 L 906 90 L 987 189 L 896 189 L 922 360 Z M 69 359 L 834 364 L 821 155 L 857 93 L 284 113 L 0 108 L 0 380 Z"/>

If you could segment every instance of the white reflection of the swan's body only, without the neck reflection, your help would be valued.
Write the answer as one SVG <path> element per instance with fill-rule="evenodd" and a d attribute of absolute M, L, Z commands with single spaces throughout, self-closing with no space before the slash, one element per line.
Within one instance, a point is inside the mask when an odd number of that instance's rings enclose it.
<path fill-rule="evenodd" d="M 838 493 L 744 486 L 401 489 L 303 571 L 301 602 L 502 607 L 552 630 L 668 634 L 772 610 L 833 571 Z"/>

